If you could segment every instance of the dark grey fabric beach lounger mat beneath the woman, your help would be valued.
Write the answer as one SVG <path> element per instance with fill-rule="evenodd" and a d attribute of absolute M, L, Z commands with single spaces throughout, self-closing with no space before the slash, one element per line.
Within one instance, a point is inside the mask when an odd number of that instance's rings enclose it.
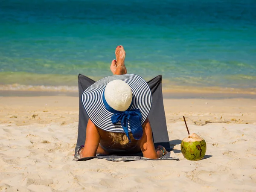
<path fill-rule="evenodd" d="M 81 95 L 84 93 L 90 85 L 95 83 L 92 79 L 79 74 L 78 76 L 78 86 L 79 86 L 79 125 L 78 125 L 78 137 L 75 149 L 74 160 L 90 160 L 93 158 L 106 159 L 109 161 L 134 161 L 134 160 L 151 160 L 143 157 L 142 153 L 138 154 L 129 154 L 125 156 L 121 155 L 100 155 L 96 157 L 85 157 L 79 159 L 79 154 L 77 153 L 79 147 L 84 145 L 85 136 L 86 136 L 86 126 L 88 122 L 88 115 L 84 109 L 84 106 L 81 102 Z M 169 144 L 169 136 L 166 126 L 166 117 L 163 107 L 163 93 L 162 93 L 162 76 L 157 76 L 154 79 L 148 81 L 148 86 L 150 87 L 152 93 L 152 106 L 148 114 L 148 119 L 151 124 L 153 132 L 154 145 L 163 145 L 166 150 L 171 151 Z M 157 160 L 178 160 L 178 158 L 170 157 L 170 153 L 164 155 L 163 157 Z"/>

